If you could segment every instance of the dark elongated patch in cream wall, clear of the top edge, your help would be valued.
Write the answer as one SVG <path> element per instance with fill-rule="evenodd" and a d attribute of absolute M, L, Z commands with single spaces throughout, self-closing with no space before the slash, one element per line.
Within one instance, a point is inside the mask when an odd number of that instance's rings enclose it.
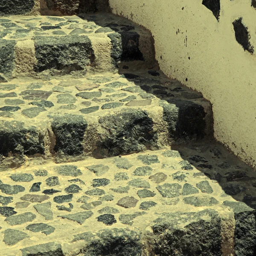
<path fill-rule="evenodd" d="M 253 53 L 253 46 L 250 44 L 250 34 L 247 27 L 242 23 L 242 17 L 238 20 L 233 21 L 236 41 L 241 44 L 244 50 L 247 50 L 250 53 Z"/>

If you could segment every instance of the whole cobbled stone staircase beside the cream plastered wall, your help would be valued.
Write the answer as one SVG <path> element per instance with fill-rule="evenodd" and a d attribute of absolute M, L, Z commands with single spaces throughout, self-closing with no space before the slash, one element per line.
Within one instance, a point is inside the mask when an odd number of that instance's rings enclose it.
<path fill-rule="evenodd" d="M 0 256 L 256 255 L 256 173 L 150 32 L 33 12 L 0 18 Z"/>

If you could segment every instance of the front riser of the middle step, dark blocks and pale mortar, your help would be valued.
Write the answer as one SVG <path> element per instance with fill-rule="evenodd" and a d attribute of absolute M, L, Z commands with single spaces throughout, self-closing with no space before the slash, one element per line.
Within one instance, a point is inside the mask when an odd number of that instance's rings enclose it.
<path fill-rule="evenodd" d="M 201 105 L 189 103 L 196 110 L 202 108 L 201 119 L 193 116 L 192 111 L 184 122 L 178 114 L 179 109 L 168 112 L 169 118 L 165 119 L 163 107 L 154 107 L 110 112 L 110 115 L 99 118 L 64 115 L 51 123 L 40 123 L 39 126 L 35 123 L 34 127 L 24 127 L 22 122 L 14 125 L 13 122 L 2 121 L 0 144 L 4 146 L 0 154 L 7 158 L 1 166 L 8 167 L 9 157 L 16 154 L 20 157 L 55 157 L 56 162 L 76 161 L 87 155 L 113 157 L 212 136 L 212 132 L 207 130 L 212 122 L 212 113 L 209 110 L 204 112 Z M 186 111 L 186 108 L 186 104 L 180 106 L 182 111 Z M 198 126 L 190 131 L 189 124 Z M 15 129 L 10 128 L 13 126 Z"/>

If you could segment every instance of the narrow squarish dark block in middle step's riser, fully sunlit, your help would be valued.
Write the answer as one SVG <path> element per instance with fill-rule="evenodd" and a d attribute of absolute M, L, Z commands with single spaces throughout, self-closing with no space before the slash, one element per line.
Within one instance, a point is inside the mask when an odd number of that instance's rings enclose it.
<path fill-rule="evenodd" d="M 62 151 L 68 155 L 83 154 L 84 148 L 81 143 L 87 128 L 83 116 L 67 114 L 55 117 L 51 127 L 56 137 L 56 152 Z"/>

